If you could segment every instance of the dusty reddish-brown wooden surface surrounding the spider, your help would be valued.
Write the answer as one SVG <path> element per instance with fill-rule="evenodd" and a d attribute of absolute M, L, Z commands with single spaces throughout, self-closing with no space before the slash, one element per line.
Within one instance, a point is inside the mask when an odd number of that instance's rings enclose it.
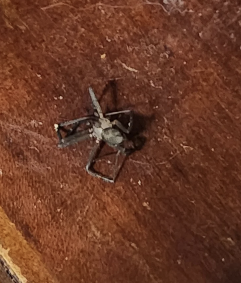
<path fill-rule="evenodd" d="M 240 2 L 0 3 L 0 206 L 49 271 L 240 282 Z M 85 172 L 91 143 L 59 150 L 53 128 L 111 78 L 118 108 L 154 115 L 114 185 Z"/>

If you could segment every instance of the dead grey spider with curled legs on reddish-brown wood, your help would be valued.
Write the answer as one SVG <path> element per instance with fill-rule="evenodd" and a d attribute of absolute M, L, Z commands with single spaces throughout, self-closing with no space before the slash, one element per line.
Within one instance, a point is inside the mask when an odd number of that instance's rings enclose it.
<path fill-rule="evenodd" d="M 96 144 L 93 146 L 89 154 L 88 162 L 86 164 L 86 171 L 93 177 L 98 177 L 104 181 L 114 183 L 122 165 L 121 164 L 119 167 L 117 167 L 118 156 L 120 153 L 124 156 L 127 156 L 134 148 L 132 141 L 130 141 L 127 137 L 133 127 L 133 112 L 132 110 L 122 110 L 103 114 L 92 87 L 89 87 L 89 94 L 93 102 L 93 115 L 64 123 L 54 124 L 54 128 L 59 139 L 58 148 L 64 148 L 87 139 L 95 140 Z M 113 117 L 120 114 L 129 115 L 129 123 L 127 128 L 124 127 L 118 119 L 113 119 Z M 86 123 L 88 127 L 86 129 L 78 130 L 80 125 L 83 123 Z M 69 125 L 73 126 L 70 129 L 67 129 L 66 127 Z M 62 136 L 61 131 L 66 133 L 64 137 Z M 106 177 L 101 173 L 91 169 L 91 166 L 95 163 L 97 152 L 103 143 L 106 143 L 113 149 L 117 150 L 115 160 L 115 167 L 117 168 L 112 178 Z"/>

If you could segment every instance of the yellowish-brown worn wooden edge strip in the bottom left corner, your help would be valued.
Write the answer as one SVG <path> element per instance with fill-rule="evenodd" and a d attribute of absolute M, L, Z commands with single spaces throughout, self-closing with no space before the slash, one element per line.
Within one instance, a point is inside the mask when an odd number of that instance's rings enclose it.
<path fill-rule="evenodd" d="M 59 283 L 0 207 L 0 264 L 16 283 Z M 8 277 L 9 277 L 8 276 Z"/>

